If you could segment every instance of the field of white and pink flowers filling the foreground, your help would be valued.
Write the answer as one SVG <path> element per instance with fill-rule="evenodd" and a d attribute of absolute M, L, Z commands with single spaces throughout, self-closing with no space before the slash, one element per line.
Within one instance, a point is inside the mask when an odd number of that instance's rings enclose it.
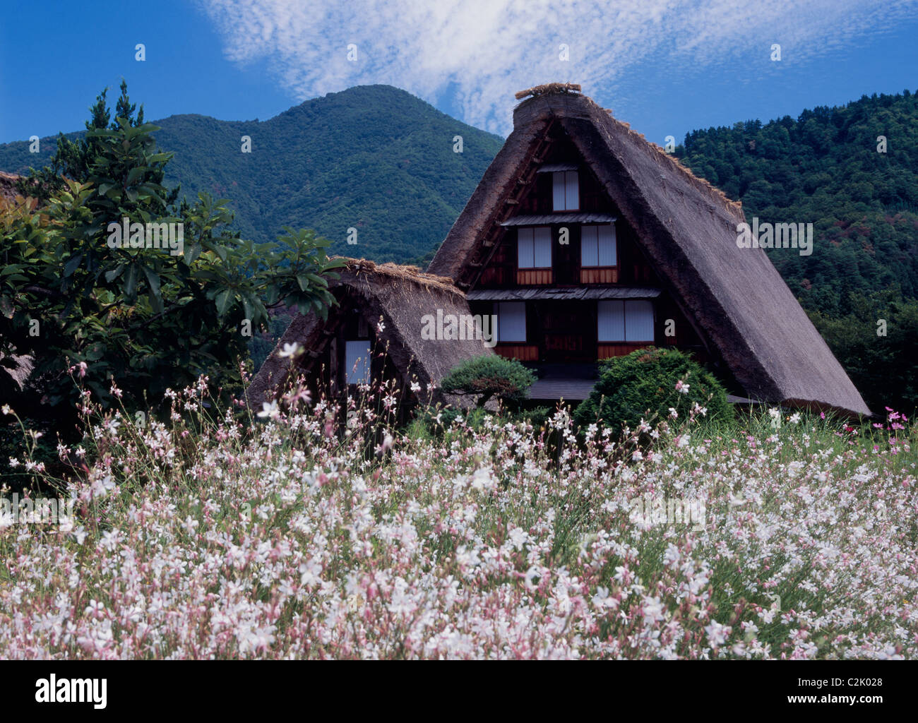
<path fill-rule="evenodd" d="M 384 390 L 339 434 L 302 391 L 240 422 L 203 388 L 168 426 L 96 420 L 73 519 L 0 518 L 0 658 L 918 651 L 916 434 L 891 411 L 872 440 L 774 411 L 583 441 L 564 412 L 397 430 Z"/>

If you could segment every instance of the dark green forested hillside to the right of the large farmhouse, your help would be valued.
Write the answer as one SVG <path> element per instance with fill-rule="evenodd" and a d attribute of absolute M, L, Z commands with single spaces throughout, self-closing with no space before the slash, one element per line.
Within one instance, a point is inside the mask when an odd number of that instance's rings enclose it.
<path fill-rule="evenodd" d="M 844 315 L 850 293 L 896 286 L 918 296 L 918 95 L 696 130 L 676 153 L 750 223 L 813 224 L 812 255 L 768 251 L 808 310 Z"/>

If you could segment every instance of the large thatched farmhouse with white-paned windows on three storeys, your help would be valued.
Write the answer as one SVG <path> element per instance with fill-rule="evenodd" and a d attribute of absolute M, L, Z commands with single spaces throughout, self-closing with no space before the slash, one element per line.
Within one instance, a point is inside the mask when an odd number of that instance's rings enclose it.
<path fill-rule="evenodd" d="M 868 414 L 765 250 L 738 247 L 742 207 L 578 89 L 521 94 L 431 261 L 498 314 L 496 351 L 560 383 L 576 363 L 674 344 L 734 394 Z"/>

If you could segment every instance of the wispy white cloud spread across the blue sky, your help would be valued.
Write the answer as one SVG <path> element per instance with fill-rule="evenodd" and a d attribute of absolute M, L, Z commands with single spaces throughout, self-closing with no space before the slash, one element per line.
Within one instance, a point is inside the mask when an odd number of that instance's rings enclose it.
<path fill-rule="evenodd" d="M 915 0 L 202 0 L 231 61 L 266 60 L 300 100 L 390 83 L 436 101 L 454 94 L 463 120 L 509 129 L 509 100 L 551 81 L 614 97 L 643 63 L 672 77 L 714 64 L 767 72 L 844 52 L 918 15 Z M 349 61 L 347 47 L 357 47 Z M 569 60 L 560 59 L 560 46 Z M 639 73 L 638 73 L 639 74 Z"/>

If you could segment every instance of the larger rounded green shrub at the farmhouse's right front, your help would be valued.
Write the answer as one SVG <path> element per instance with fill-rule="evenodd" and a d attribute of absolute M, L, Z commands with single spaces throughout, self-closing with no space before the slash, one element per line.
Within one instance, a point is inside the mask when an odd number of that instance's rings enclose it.
<path fill-rule="evenodd" d="M 689 385 L 688 393 L 677 391 L 680 380 Z M 634 428 L 642 418 L 668 417 L 671 407 L 680 418 L 687 417 L 694 402 L 707 407 L 709 419 L 733 415 L 722 385 L 689 356 L 677 350 L 644 349 L 602 362 L 599 381 L 577 406 L 574 418 L 581 427 L 599 420 L 613 428 Z"/>

